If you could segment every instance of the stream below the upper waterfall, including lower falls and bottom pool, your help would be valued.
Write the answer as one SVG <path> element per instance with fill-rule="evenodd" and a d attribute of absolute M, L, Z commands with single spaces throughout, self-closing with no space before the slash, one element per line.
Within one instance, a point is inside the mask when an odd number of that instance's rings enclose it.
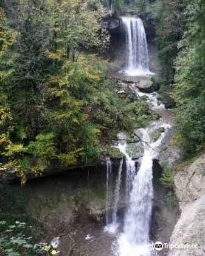
<path fill-rule="evenodd" d="M 151 108 L 161 115 L 145 129 L 139 129 L 144 141 L 144 154 L 139 168 L 127 152 L 126 135 L 119 134 L 117 148 L 125 155 L 120 161 L 116 179 L 113 180 L 112 162 L 107 158 L 106 171 L 106 226 L 88 227 L 76 234 L 74 256 L 152 256 L 157 255 L 150 241 L 150 218 L 153 201 L 153 159 L 157 158 L 159 146 L 167 130 L 172 126 L 172 112 L 158 101 L 157 93 L 147 95 Z M 164 127 L 157 141 L 150 135 L 159 127 Z M 123 140 L 124 138 L 124 140 Z M 124 174 L 122 172 L 125 172 Z M 125 179 L 125 182 L 123 182 Z M 112 181 L 113 180 L 113 181 Z M 118 214 L 119 201 L 125 201 L 125 215 Z M 61 250 L 68 251 L 69 240 L 61 241 Z M 64 254 L 63 254 L 64 255 Z"/>

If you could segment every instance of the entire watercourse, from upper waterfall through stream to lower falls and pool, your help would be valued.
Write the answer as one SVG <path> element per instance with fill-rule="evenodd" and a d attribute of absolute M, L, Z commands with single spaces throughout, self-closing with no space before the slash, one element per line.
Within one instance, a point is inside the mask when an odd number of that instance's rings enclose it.
<path fill-rule="evenodd" d="M 122 17 L 127 57 L 123 76 L 143 77 L 150 80 L 153 73 L 148 68 L 148 49 L 144 26 L 140 18 Z M 150 222 L 153 204 L 153 160 L 157 158 L 165 133 L 172 126 L 172 112 L 158 101 L 157 93 L 142 93 L 131 85 L 138 96 L 147 96 L 152 110 L 160 116 L 144 129 L 134 131 L 141 138 L 142 157 L 134 160 L 129 152 L 125 133 L 119 133 L 114 147 L 125 155 L 120 160 L 118 172 L 113 176 L 113 163 L 106 160 L 106 223 L 105 227 L 88 228 L 75 237 L 74 256 L 153 256 L 157 255 L 150 240 Z M 164 132 L 155 142 L 151 134 L 159 127 Z M 139 144 L 137 144 L 139 146 Z M 137 165 L 136 165 L 137 162 Z M 137 167 L 136 167 L 137 166 Z M 124 202 L 119 214 L 120 201 Z M 62 241 L 61 248 L 68 247 Z M 68 251 L 68 248 L 66 249 Z"/>

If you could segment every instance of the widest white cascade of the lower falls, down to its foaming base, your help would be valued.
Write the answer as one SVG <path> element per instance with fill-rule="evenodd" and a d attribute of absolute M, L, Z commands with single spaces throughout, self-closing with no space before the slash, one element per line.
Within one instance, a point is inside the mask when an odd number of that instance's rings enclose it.
<path fill-rule="evenodd" d="M 146 130 L 142 129 L 143 141 L 150 142 Z M 126 145 L 125 145 L 126 146 Z M 126 148 L 119 147 L 126 153 Z M 152 165 L 155 151 L 144 143 L 144 155 L 141 167 L 132 179 L 132 188 L 125 214 L 123 233 L 117 244 L 114 244 L 114 254 L 117 256 L 151 256 L 153 247 L 149 240 L 150 217 L 153 200 Z M 117 248 L 117 249 L 116 249 Z"/>

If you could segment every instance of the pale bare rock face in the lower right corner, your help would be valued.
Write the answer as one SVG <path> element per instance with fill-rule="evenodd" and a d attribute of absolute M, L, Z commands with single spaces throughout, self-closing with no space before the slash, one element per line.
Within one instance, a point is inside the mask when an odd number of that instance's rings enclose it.
<path fill-rule="evenodd" d="M 177 172 L 175 186 L 182 212 L 170 244 L 196 246 L 170 249 L 168 256 L 205 255 L 205 154 Z"/>

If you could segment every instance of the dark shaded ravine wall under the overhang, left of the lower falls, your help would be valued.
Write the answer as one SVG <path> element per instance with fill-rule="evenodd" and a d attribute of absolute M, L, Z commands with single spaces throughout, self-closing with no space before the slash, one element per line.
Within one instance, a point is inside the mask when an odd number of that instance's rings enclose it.
<path fill-rule="evenodd" d="M 105 215 L 106 166 L 68 170 L 61 174 L 0 184 L 0 218 L 31 216 L 44 233 L 37 239 L 49 241 L 62 232 L 72 232 Z"/>

